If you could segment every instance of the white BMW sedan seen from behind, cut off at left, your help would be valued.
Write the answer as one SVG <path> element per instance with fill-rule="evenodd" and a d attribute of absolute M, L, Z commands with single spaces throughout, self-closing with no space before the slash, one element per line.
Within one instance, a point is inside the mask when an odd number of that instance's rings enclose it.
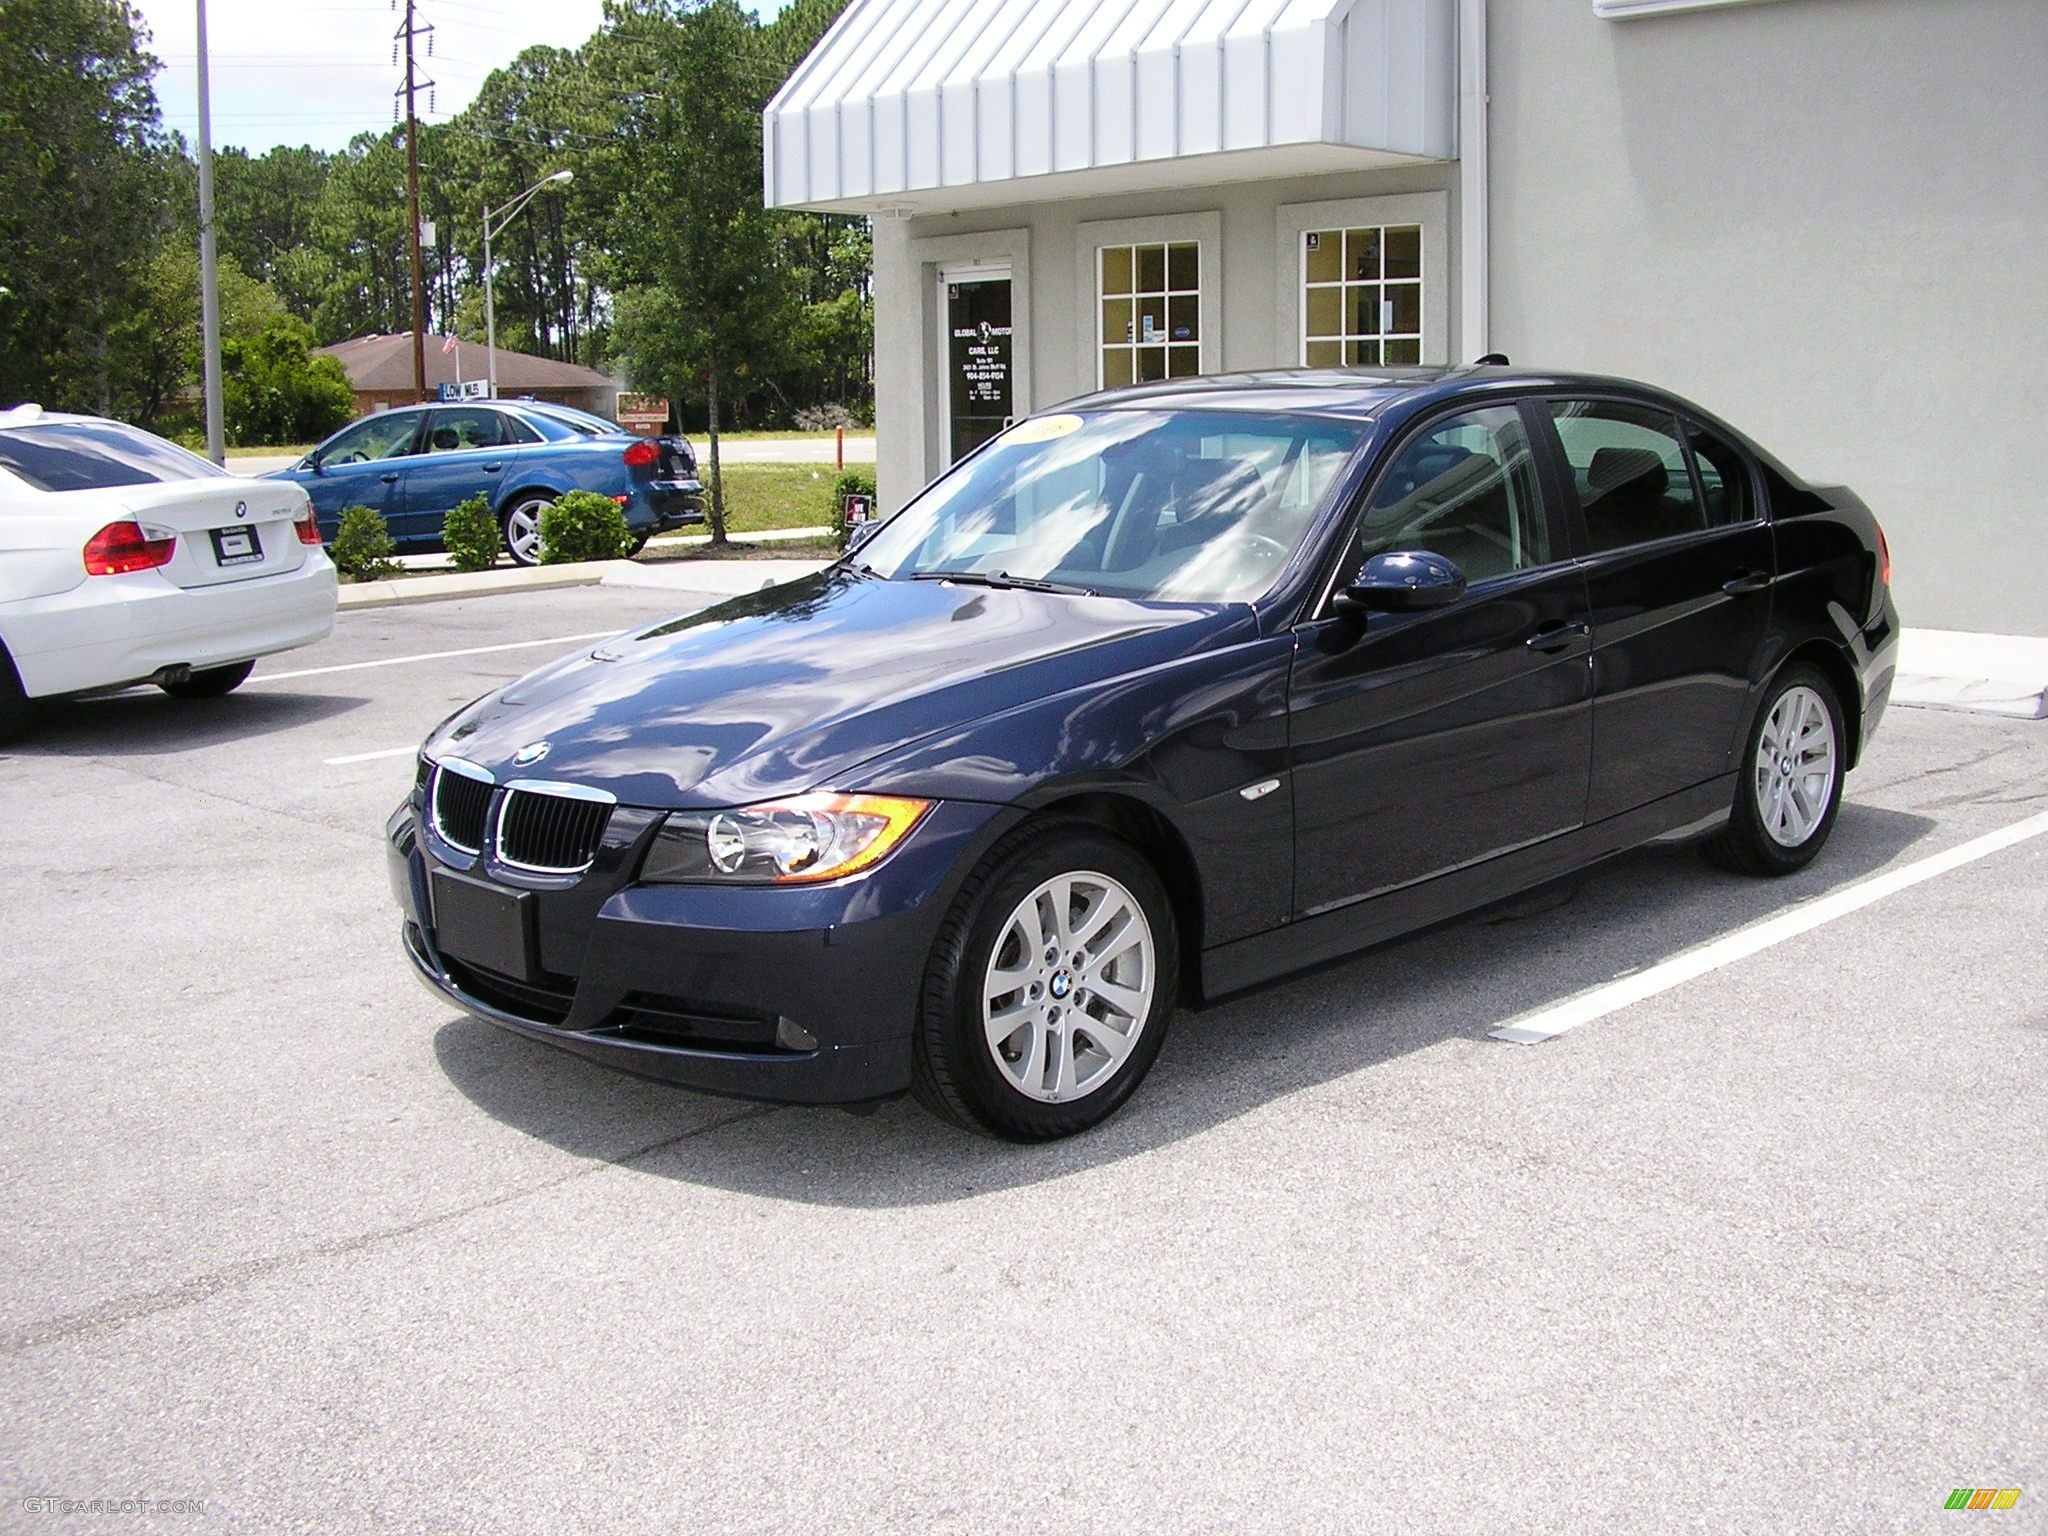
<path fill-rule="evenodd" d="M 297 485 L 96 416 L 0 412 L 0 741 L 35 698 L 225 694 L 334 629 L 334 590 Z"/>

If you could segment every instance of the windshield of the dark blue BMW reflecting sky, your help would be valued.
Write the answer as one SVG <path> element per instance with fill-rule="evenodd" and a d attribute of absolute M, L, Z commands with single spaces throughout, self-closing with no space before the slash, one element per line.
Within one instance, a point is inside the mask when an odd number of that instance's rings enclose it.
<path fill-rule="evenodd" d="M 1280 575 L 1362 432 L 1245 412 L 1036 416 L 895 514 L 858 561 L 893 580 L 1247 602 Z"/>

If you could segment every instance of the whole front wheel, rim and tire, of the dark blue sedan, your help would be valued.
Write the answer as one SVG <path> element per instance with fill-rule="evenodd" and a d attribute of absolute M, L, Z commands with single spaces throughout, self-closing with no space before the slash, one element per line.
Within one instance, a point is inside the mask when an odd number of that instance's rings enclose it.
<path fill-rule="evenodd" d="M 1081 825 L 1028 829 L 940 930 L 918 1096 L 1008 1141 L 1087 1130 L 1151 1069 L 1178 973 L 1171 903 L 1133 848 Z"/>

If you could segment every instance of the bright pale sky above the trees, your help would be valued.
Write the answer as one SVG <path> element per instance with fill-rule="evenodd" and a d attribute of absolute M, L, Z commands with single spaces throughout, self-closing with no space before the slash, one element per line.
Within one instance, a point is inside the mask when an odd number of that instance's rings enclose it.
<path fill-rule="evenodd" d="M 156 78 L 164 125 L 197 141 L 197 0 L 135 0 L 135 8 L 164 61 Z M 752 8 L 772 16 L 782 0 Z M 436 82 L 434 111 L 422 94 L 420 115 L 446 121 L 520 49 L 575 47 L 602 12 L 600 0 L 420 0 L 420 20 L 434 23 L 434 55 L 422 68 Z M 391 127 L 391 92 L 403 82 L 391 63 L 399 18 L 389 0 L 207 0 L 215 147 L 340 150 L 365 129 Z"/>

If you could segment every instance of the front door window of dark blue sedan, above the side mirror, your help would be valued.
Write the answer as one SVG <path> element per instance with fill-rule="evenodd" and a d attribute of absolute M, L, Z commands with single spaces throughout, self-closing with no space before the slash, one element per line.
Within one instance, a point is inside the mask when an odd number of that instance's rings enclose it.
<path fill-rule="evenodd" d="M 1466 582 L 1550 561 L 1530 440 L 1513 406 L 1450 416 L 1395 455 L 1372 489 L 1350 569 L 1395 549 L 1444 555 Z"/>

